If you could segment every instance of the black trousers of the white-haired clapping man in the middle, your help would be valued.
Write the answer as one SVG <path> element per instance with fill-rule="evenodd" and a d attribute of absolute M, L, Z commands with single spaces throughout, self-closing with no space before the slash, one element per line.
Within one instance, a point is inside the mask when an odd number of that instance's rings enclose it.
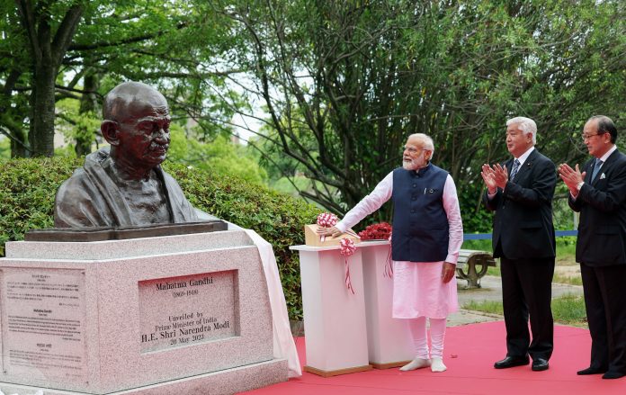
<path fill-rule="evenodd" d="M 500 259 L 505 310 L 506 355 L 550 359 L 554 321 L 550 301 L 554 258 Z M 528 332 L 531 319 L 532 341 Z"/>

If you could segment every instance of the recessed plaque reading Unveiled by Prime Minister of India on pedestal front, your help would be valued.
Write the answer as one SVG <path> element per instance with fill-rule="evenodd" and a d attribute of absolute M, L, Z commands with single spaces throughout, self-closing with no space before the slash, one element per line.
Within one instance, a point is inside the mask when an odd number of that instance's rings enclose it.
<path fill-rule="evenodd" d="M 139 282 L 141 352 L 239 336 L 237 273 Z"/>

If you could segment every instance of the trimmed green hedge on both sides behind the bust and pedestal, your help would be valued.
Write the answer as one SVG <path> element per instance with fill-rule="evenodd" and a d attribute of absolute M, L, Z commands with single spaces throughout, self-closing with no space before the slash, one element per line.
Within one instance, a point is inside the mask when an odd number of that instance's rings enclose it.
<path fill-rule="evenodd" d="M 52 157 L 0 160 L 0 256 L 4 243 L 22 240 L 30 229 L 52 228 L 54 196 L 83 159 Z M 304 243 L 303 226 L 319 209 L 291 196 L 241 179 L 166 163 L 194 207 L 255 229 L 272 243 L 290 319 L 302 319 L 298 255 L 289 246 Z"/>

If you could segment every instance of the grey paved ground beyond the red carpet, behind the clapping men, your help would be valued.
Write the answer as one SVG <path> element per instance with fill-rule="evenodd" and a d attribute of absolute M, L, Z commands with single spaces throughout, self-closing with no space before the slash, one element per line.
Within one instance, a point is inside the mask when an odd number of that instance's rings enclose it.
<path fill-rule="evenodd" d="M 449 327 L 504 319 L 504 317 L 495 314 L 462 309 L 463 305 L 469 301 L 502 301 L 502 283 L 500 277 L 486 275 L 481 279 L 480 284 L 481 288 L 468 290 L 465 289 L 467 282 L 457 279 L 459 306 L 461 310 L 448 317 Z M 571 293 L 582 294 L 583 287 L 580 285 L 552 283 L 552 299 Z"/>

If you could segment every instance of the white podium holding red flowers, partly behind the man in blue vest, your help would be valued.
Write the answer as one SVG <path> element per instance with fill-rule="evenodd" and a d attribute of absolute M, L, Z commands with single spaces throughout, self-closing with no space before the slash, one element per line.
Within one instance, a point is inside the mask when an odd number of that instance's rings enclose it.
<path fill-rule="evenodd" d="M 411 334 L 405 319 L 391 318 L 393 277 L 384 275 L 389 241 L 363 241 L 357 249 L 362 251 L 370 364 L 376 369 L 408 364 L 415 356 Z"/>

